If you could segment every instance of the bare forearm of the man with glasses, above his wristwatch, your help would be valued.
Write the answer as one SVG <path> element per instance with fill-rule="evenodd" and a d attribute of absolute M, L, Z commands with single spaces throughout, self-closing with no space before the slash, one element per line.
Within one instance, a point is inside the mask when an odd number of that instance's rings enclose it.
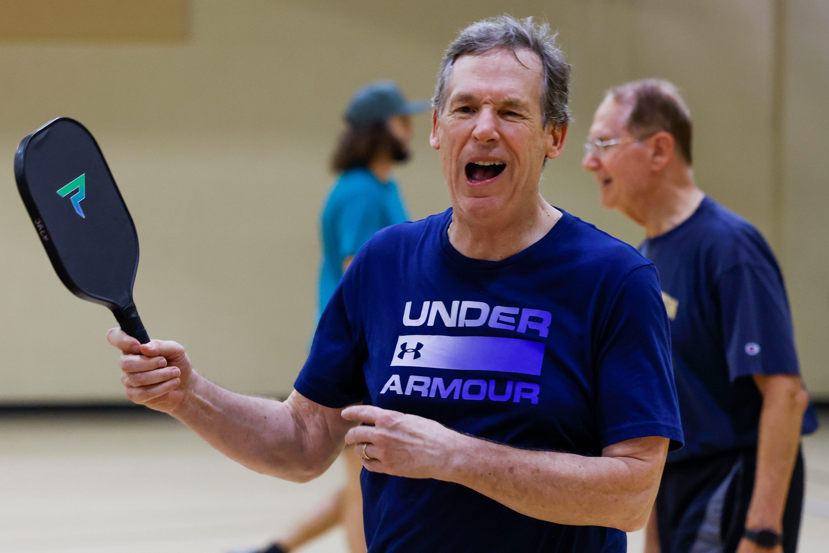
<path fill-rule="evenodd" d="M 746 526 L 782 531 L 783 509 L 797 459 L 808 396 L 797 377 L 778 376 L 778 384 L 769 383 L 764 390 L 757 473 Z"/>

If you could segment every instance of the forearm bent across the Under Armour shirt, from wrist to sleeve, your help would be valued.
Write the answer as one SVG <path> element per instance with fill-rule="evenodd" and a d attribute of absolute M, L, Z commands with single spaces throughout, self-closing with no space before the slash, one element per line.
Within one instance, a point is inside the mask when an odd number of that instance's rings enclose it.
<path fill-rule="evenodd" d="M 652 459 L 529 451 L 463 436 L 449 479 L 529 517 L 635 531 L 656 497 L 664 441 L 655 467 Z"/>

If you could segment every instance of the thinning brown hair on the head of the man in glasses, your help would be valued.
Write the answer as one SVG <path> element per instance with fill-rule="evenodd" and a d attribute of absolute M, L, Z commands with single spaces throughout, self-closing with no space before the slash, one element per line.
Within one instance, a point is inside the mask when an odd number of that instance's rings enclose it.
<path fill-rule="evenodd" d="M 676 86 L 667 80 L 633 80 L 608 90 L 608 96 L 630 107 L 628 132 L 649 136 L 660 131 L 670 133 L 676 152 L 691 165 L 691 110 Z"/>

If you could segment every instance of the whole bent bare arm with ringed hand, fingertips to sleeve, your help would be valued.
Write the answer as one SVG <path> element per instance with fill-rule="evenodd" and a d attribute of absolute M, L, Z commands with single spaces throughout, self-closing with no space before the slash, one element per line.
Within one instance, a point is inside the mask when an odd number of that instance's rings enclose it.
<path fill-rule="evenodd" d="M 458 483 L 544 521 L 623 531 L 645 525 L 669 441 L 628 439 L 584 457 L 494 444 L 374 405 L 352 405 L 342 417 L 366 423 L 348 430 L 346 443 L 363 444 L 367 470 Z"/>

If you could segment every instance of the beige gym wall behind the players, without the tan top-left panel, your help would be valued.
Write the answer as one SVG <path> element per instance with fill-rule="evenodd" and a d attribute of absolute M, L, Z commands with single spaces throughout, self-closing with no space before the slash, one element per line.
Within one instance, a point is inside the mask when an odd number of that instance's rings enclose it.
<path fill-rule="evenodd" d="M 224 386 L 286 395 L 313 331 L 318 211 L 351 91 L 390 78 L 429 97 L 458 28 L 501 12 L 545 17 L 574 64 L 575 123 L 567 152 L 548 165 L 545 196 L 634 244 L 641 231 L 599 207 L 581 143 L 608 85 L 663 76 L 681 87 L 695 117 L 696 177 L 784 261 L 807 384 L 829 398 L 824 3 L 784 4 L 779 120 L 771 1 L 194 0 L 181 41 L 5 41 L 0 403 L 123 397 L 118 355 L 104 342 L 114 318 L 63 288 L 17 197 L 12 154 L 23 136 L 60 115 L 86 124 L 138 226 L 135 300 L 150 335 L 184 343 Z M 397 176 L 419 218 L 448 197 L 428 115 L 415 129 L 414 160 Z"/>

